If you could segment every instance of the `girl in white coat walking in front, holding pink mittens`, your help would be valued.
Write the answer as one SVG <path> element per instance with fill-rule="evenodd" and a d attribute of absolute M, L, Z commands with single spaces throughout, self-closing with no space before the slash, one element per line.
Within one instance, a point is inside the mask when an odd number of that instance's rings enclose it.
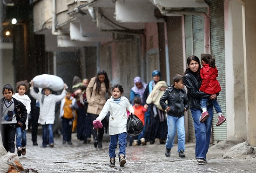
<path fill-rule="evenodd" d="M 115 149 L 117 143 L 119 145 L 119 164 L 121 167 L 126 163 L 125 149 L 126 149 L 126 138 L 127 138 L 127 112 L 126 109 L 134 114 L 134 109 L 129 103 L 129 100 L 125 96 L 121 96 L 124 90 L 122 85 L 115 84 L 112 87 L 112 96 L 107 100 L 100 115 L 94 120 L 94 128 L 102 128 L 101 121 L 110 112 L 109 116 L 109 128 L 108 133 L 110 135 L 108 155 L 110 158 L 110 167 L 115 167 Z"/>

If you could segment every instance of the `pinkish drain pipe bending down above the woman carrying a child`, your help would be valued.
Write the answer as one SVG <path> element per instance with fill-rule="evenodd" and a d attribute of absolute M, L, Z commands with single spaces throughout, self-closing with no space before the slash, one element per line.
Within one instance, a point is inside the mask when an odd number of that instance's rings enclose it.
<path fill-rule="evenodd" d="M 188 12 L 188 11 L 174 11 L 174 10 L 162 10 L 162 15 L 165 16 L 182 16 L 182 15 L 201 15 L 204 18 L 204 52 L 210 53 L 210 19 L 209 19 L 209 7 L 207 13 L 204 12 Z"/>

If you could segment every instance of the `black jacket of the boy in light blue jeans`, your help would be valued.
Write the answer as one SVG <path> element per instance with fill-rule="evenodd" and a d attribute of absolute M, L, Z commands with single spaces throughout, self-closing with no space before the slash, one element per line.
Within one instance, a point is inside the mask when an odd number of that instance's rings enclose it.
<path fill-rule="evenodd" d="M 165 103 L 167 101 L 167 103 Z M 169 107 L 167 115 L 180 117 L 184 115 L 185 109 L 189 109 L 189 99 L 184 89 L 175 89 L 174 85 L 169 86 L 163 93 L 160 104 L 163 110 Z"/>

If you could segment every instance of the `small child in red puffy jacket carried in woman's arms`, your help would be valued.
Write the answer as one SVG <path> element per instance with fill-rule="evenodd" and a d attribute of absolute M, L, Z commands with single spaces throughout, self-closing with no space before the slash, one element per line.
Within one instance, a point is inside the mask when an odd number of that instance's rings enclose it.
<path fill-rule="evenodd" d="M 203 67 L 200 70 L 200 75 L 202 78 L 202 85 L 200 87 L 200 90 L 207 94 L 219 93 L 221 91 L 221 86 L 219 81 L 217 80 L 218 70 L 215 66 L 215 59 L 212 58 L 211 54 L 209 53 L 202 53 L 201 64 Z M 208 98 L 201 99 L 200 104 L 202 109 L 202 116 L 200 118 L 200 122 L 205 122 L 206 119 L 209 117 L 206 109 L 207 101 Z M 226 118 L 222 115 L 222 110 L 217 102 L 217 98 L 215 100 L 212 100 L 212 103 L 216 112 L 218 113 L 218 122 L 216 126 L 220 126 L 223 122 L 226 121 Z"/>

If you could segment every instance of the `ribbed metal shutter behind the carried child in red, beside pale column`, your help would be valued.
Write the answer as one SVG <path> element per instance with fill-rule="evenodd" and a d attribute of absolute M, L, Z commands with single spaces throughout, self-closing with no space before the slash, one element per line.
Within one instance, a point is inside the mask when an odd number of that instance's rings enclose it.
<path fill-rule="evenodd" d="M 224 8 L 223 1 L 213 1 L 210 3 L 210 33 L 211 33 L 211 54 L 216 59 L 218 72 L 218 81 L 221 85 L 220 95 L 217 101 L 226 117 L 226 88 L 225 88 L 225 35 L 224 35 Z M 213 117 L 213 140 L 221 141 L 227 139 L 227 123 L 216 127 L 217 114 Z"/>

